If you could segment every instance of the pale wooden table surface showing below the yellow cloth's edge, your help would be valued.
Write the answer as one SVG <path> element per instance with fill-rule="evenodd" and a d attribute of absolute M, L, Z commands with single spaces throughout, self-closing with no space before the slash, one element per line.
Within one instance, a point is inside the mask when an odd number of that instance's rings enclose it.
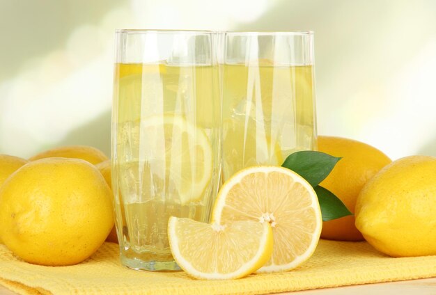
<path fill-rule="evenodd" d="M 1 295 L 13 295 L 0 285 Z M 426 278 L 422 280 L 403 280 L 400 282 L 382 282 L 380 284 L 355 285 L 328 289 L 315 289 L 298 292 L 280 293 L 291 295 L 396 295 L 396 294 L 413 294 L 413 295 L 436 295 L 436 278 Z"/>

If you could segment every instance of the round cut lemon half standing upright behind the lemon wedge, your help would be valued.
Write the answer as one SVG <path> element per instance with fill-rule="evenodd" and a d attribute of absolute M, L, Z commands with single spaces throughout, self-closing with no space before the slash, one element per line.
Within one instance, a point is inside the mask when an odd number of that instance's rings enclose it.
<path fill-rule="evenodd" d="M 258 270 L 288 271 L 313 254 L 322 228 L 318 198 L 312 186 L 283 167 L 254 166 L 224 183 L 212 211 L 212 222 L 270 223 L 274 236 L 271 259 Z"/>

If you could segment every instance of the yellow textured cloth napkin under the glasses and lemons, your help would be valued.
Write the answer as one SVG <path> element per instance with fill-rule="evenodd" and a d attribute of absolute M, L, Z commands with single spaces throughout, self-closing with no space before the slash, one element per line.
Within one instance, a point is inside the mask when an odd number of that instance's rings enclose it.
<path fill-rule="evenodd" d="M 118 245 L 104 243 L 74 266 L 38 266 L 0 245 L 0 284 L 20 294 L 265 294 L 436 276 L 436 256 L 392 258 L 366 242 L 320 240 L 311 259 L 286 273 L 239 280 L 196 280 L 182 271 L 132 271 Z"/>

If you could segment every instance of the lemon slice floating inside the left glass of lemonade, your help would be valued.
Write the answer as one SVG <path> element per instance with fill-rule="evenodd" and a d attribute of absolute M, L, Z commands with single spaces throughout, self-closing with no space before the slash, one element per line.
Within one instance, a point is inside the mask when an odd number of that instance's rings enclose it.
<path fill-rule="evenodd" d="M 130 157 L 118 161 L 118 178 L 134 191 L 124 196 L 142 191 L 150 198 L 180 198 L 181 204 L 201 198 L 212 176 L 212 147 L 204 129 L 178 115 L 155 115 L 117 128 L 118 154 Z"/>

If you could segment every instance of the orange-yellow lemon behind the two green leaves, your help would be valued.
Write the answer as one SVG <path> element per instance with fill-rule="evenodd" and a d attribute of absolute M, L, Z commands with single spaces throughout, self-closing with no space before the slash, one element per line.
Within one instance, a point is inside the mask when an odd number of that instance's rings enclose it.
<path fill-rule="evenodd" d="M 342 157 L 320 186 L 332 191 L 353 213 L 357 196 L 364 184 L 381 168 L 391 163 L 391 159 L 380 150 L 348 138 L 318 136 L 318 150 Z M 323 222 L 321 237 L 341 241 L 364 239 L 355 227 L 355 216 Z"/>

